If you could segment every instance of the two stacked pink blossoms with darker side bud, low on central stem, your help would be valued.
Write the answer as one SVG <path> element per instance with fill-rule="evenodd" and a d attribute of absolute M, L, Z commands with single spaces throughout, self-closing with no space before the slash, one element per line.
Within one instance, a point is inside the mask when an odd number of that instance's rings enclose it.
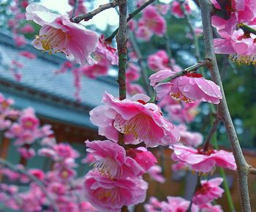
<path fill-rule="evenodd" d="M 84 181 L 86 199 L 101 211 L 120 211 L 124 205 L 136 205 L 146 198 L 148 183 L 141 175 L 157 159 L 146 148 L 128 149 L 110 140 L 86 141 L 94 156 L 94 170 Z"/>

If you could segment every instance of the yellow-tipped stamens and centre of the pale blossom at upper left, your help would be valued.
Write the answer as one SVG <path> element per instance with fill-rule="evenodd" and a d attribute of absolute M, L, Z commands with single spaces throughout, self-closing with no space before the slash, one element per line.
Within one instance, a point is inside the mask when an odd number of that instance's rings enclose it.
<path fill-rule="evenodd" d="M 67 49 L 67 34 L 61 29 L 54 29 L 51 26 L 46 26 L 43 33 L 36 35 L 36 44 L 41 43 L 43 51 L 51 53 L 58 53 Z"/>

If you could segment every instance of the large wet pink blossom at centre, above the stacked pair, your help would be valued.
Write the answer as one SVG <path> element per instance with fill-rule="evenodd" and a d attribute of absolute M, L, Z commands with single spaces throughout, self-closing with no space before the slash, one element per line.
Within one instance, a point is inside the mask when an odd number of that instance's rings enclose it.
<path fill-rule="evenodd" d="M 118 132 L 124 133 L 124 142 L 147 147 L 170 145 L 178 142 L 176 127 L 162 116 L 160 107 L 149 103 L 149 97 L 136 94 L 132 99 L 120 101 L 110 94 L 103 96 L 105 105 L 91 110 L 91 122 L 99 126 L 99 135 L 118 140 Z M 148 103 L 147 103 L 148 102 Z"/>

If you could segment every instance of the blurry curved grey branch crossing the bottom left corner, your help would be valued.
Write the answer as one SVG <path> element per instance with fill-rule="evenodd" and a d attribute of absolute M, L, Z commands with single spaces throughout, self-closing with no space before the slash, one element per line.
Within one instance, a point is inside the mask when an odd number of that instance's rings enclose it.
<path fill-rule="evenodd" d="M 22 175 L 26 175 L 26 177 L 29 178 L 29 180 L 33 181 L 34 183 L 37 183 L 37 186 L 39 186 L 39 188 L 42 190 L 42 192 L 48 198 L 48 201 L 50 202 L 50 204 L 53 206 L 54 211 L 59 212 L 59 209 L 58 209 L 57 205 L 53 201 L 53 198 L 50 197 L 50 195 L 48 194 L 48 191 L 45 189 L 44 184 L 41 181 L 39 181 L 34 175 L 31 175 L 26 170 L 22 170 L 22 169 L 19 169 L 19 168 L 15 167 L 14 164 L 11 164 L 10 162 L 7 162 L 4 159 L 0 159 L 0 164 L 4 165 L 4 167 L 8 167 L 10 170 L 13 170 L 17 173 L 20 173 Z"/>

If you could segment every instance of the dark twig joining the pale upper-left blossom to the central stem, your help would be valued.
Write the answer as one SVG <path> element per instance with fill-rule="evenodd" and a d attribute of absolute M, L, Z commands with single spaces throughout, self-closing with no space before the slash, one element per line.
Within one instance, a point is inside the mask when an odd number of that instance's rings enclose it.
<path fill-rule="evenodd" d="M 78 15 L 77 17 L 70 19 L 70 21 L 74 22 L 74 23 L 80 23 L 80 21 L 82 21 L 82 20 L 88 21 L 91 18 L 94 18 L 94 16 L 97 15 L 99 12 L 102 12 L 104 10 L 110 9 L 112 7 L 120 6 L 121 4 L 124 4 L 124 3 L 125 3 L 124 0 L 121 0 L 121 1 L 118 1 L 118 0 L 111 1 L 111 2 L 109 2 L 107 4 L 99 5 L 99 7 L 97 9 L 92 10 L 91 12 L 87 12 L 86 14 L 83 14 L 83 15 Z"/>

